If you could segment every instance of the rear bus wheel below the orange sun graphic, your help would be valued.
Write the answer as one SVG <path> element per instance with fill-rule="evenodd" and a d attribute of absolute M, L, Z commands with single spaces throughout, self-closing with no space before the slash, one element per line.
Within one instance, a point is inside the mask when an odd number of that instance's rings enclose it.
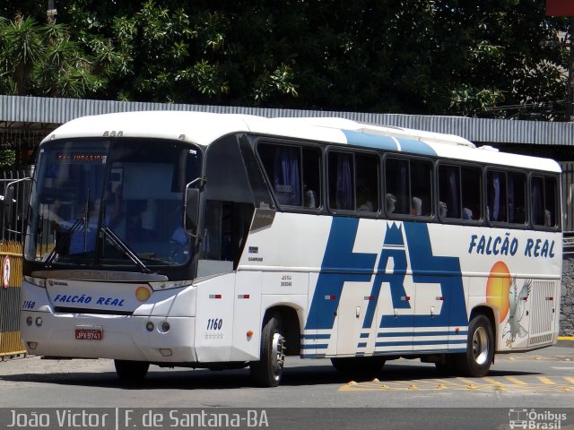
<path fill-rule="evenodd" d="M 474 316 L 468 324 L 466 352 L 453 357 L 457 373 L 481 377 L 488 374 L 494 358 L 494 335 L 490 320 L 483 314 Z"/>

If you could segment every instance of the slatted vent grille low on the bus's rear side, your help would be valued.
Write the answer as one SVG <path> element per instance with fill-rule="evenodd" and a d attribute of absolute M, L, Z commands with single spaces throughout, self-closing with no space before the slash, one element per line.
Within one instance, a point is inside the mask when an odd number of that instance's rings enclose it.
<path fill-rule="evenodd" d="M 552 340 L 554 323 L 554 282 L 535 280 L 532 282 L 530 302 L 530 345 Z"/>

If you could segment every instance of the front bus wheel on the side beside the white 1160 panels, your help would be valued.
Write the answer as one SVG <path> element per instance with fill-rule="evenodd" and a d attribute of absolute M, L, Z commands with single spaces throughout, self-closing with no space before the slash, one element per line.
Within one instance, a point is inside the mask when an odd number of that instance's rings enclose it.
<path fill-rule="evenodd" d="M 253 382 L 259 387 L 276 387 L 285 363 L 285 337 L 278 314 L 270 314 L 265 320 L 259 357 L 249 365 Z"/>

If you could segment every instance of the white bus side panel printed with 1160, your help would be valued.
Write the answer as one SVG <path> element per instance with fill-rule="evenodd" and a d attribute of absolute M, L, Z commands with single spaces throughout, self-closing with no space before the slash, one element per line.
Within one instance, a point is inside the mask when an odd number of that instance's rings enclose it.
<path fill-rule="evenodd" d="M 196 355 L 199 362 L 230 361 L 235 277 L 235 273 L 226 273 L 197 284 Z"/>

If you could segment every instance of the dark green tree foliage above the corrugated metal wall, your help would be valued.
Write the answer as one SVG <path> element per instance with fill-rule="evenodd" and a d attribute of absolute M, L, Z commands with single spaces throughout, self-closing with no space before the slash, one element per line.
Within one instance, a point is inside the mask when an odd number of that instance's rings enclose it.
<path fill-rule="evenodd" d="M 4 93 L 564 118 L 568 21 L 537 0 L 19 3 Z"/>

